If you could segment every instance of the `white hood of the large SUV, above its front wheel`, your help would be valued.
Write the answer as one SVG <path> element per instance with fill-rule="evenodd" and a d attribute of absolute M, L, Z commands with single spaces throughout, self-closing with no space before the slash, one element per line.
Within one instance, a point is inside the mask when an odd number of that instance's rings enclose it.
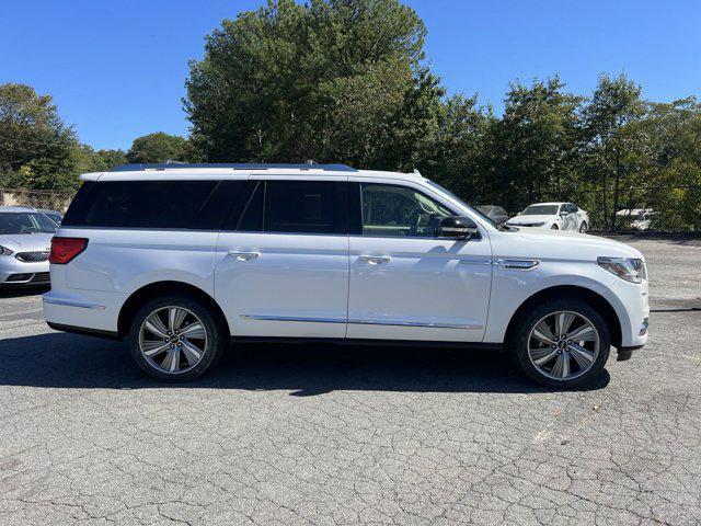
<path fill-rule="evenodd" d="M 513 233 L 528 241 L 525 244 L 530 248 L 529 252 L 532 252 L 533 256 L 547 253 L 553 258 L 564 256 L 593 261 L 596 261 L 599 255 L 644 259 L 643 254 L 633 247 L 588 233 L 528 227 L 521 227 L 518 232 Z"/>

